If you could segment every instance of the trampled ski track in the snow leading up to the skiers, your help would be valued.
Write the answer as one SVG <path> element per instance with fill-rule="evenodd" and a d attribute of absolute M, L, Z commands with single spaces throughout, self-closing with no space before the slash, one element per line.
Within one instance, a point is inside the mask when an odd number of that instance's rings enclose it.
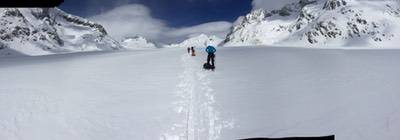
<path fill-rule="evenodd" d="M 215 91 L 209 79 L 212 73 L 202 70 L 194 57 L 184 54 L 181 59 L 184 71 L 177 85 L 179 101 L 174 103 L 174 109 L 183 119 L 160 140 L 216 140 L 232 123 L 221 120 L 215 109 Z"/>

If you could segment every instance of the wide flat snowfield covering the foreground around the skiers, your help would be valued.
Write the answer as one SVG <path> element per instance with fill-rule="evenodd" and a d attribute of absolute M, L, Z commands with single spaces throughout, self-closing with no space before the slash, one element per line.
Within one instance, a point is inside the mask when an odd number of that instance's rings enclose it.
<path fill-rule="evenodd" d="M 183 48 L 4 58 L 0 139 L 398 139 L 399 54 L 220 48 L 214 72 Z"/>

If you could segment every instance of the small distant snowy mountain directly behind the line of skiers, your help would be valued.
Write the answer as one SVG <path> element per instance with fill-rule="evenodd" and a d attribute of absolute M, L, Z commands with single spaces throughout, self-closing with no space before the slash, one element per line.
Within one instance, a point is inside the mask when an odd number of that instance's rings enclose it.
<path fill-rule="evenodd" d="M 205 34 L 201 34 L 199 36 L 191 37 L 181 43 L 171 44 L 165 47 L 206 47 L 207 45 L 218 46 L 221 44 L 223 39 L 217 36 L 207 36 Z"/>

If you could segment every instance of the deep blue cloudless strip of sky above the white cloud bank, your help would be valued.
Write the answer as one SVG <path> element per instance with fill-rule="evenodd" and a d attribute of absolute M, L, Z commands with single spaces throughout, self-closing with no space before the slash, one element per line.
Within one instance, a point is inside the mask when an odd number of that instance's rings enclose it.
<path fill-rule="evenodd" d="M 102 14 L 116 7 L 141 4 L 151 16 L 171 27 L 193 26 L 213 21 L 235 21 L 252 9 L 251 0 L 65 0 L 59 7 L 82 17 Z"/>

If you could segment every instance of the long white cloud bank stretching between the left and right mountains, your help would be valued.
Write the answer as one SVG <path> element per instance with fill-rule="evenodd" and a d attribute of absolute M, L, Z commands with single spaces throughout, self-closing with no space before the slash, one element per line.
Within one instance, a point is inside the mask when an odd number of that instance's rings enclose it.
<path fill-rule="evenodd" d="M 224 38 L 232 26 L 230 22 L 217 21 L 172 28 L 168 27 L 165 21 L 153 18 L 150 9 L 139 4 L 120 6 L 89 19 L 102 24 L 107 32 L 118 40 L 140 35 L 162 43 L 175 43 L 202 33 Z"/>

